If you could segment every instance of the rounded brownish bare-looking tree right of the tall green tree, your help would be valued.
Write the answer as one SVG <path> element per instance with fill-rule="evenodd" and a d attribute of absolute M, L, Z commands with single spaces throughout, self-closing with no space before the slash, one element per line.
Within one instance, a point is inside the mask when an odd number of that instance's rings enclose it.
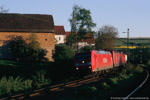
<path fill-rule="evenodd" d="M 95 47 L 97 50 L 111 50 L 114 46 L 115 40 L 118 37 L 118 30 L 114 26 L 104 25 L 99 28 L 96 37 Z"/>

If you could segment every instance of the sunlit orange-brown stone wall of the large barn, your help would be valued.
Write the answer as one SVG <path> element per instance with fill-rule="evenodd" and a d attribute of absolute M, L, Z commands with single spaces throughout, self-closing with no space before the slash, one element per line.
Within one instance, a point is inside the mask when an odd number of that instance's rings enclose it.
<path fill-rule="evenodd" d="M 28 41 L 28 37 L 31 33 L 22 32 L 0 32 L 0 59 L 11 59 L 11 53 L 9 48 L 5 45 L 5 42 L 10 40 L 12 36 L 22 36 L 24 40 Z M 55 37 L 54 33 L 33 33 L 38 37 L 38 42 L 41 48 L 48 51 L 46 58 L 49 61 L 53 61 L 52 55 L 55 52 Z"/>

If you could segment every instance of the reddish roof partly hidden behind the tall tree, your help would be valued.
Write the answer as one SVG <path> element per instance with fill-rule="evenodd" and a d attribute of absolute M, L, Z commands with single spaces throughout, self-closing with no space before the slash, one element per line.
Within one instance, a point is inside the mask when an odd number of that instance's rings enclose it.
<path fill-rule="evenodd" d="M 71 34 L 71 32 L 66 32 L 66 40 L 68 40 L 68 36 L 69 34 Z M 92 33 L 87 33 L 86 34 L 86 39 L 80 40 L 79 42 L 87 42 L 88 44 L 95 44 L 95 39 L 94 36 L 92 35 Z"/>

